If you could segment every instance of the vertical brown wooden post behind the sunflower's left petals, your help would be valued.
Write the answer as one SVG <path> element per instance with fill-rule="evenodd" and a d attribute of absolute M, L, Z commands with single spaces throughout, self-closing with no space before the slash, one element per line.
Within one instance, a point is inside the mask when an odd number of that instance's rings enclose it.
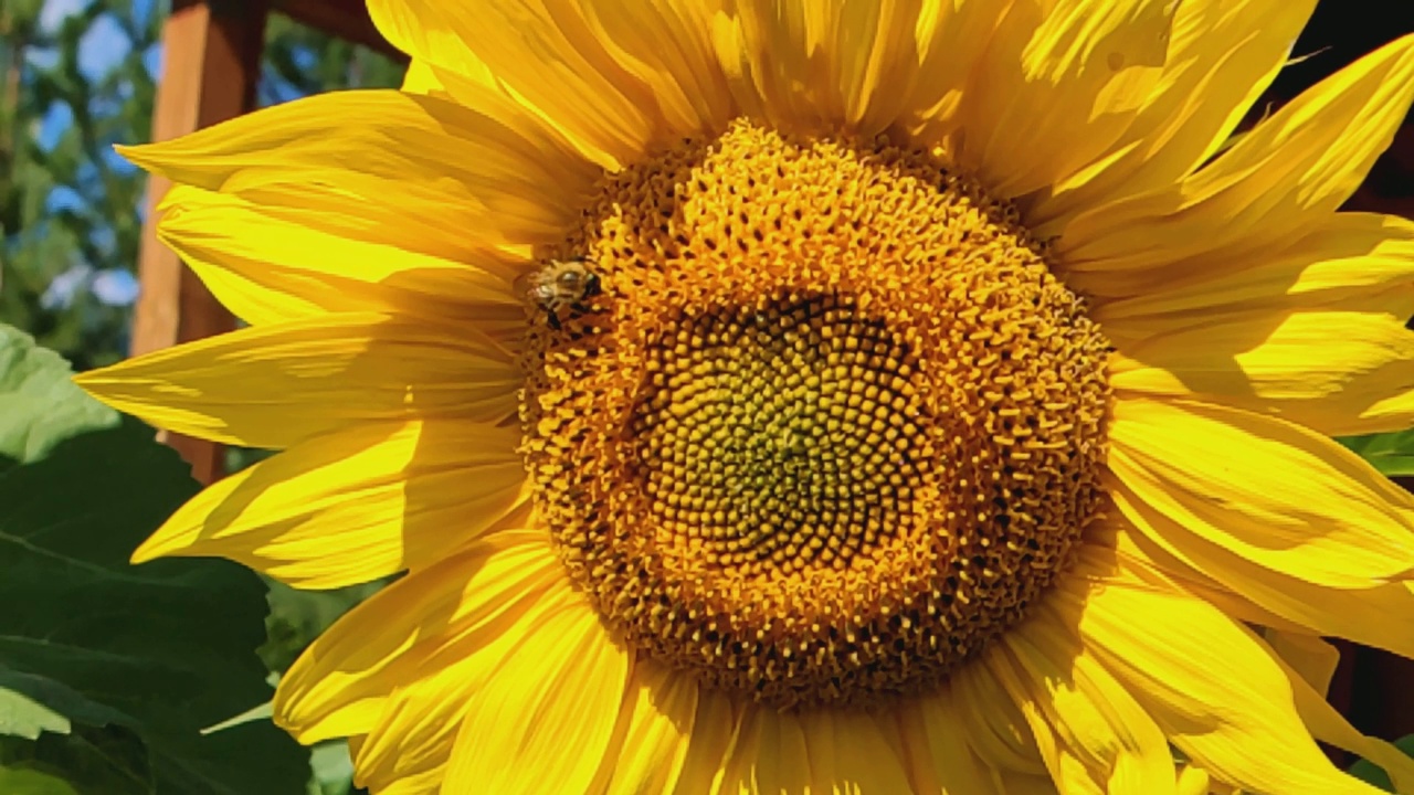
<path fill-rule="evenodd" d="M 255 105 L 264 38 L 263 0 L 175 0 L 163 27 L 153 140 L 168 140 L 232 119 Z M 154 208 L 171 182 L 151 177 L 133 320 L 133 354 L 158 351 L 235 328 L 235 318 L 177 255 L 157 240 Z M 164 440 L 205 484 L 225 474 L 225 448 L 180 434 Z"/>

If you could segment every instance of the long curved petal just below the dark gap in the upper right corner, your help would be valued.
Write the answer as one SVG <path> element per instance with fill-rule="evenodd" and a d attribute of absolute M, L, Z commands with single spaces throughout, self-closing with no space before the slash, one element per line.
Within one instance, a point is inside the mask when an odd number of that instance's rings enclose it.
<path fill-rule="evenodd" d="M 1068 280 L 1103 290 L 1110 272 L 1284 246 L 1349 198 L 1411 98 L 1414 35 L 1307 91 L 1184 182 L 1077 216 L 1056 240 Z"/>

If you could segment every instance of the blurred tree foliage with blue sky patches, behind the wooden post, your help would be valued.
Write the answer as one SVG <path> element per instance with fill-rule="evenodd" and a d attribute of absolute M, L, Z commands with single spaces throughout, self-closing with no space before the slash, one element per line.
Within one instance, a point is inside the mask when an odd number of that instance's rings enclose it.
<path fill-rule="evenodd" d="M 48 0 L 57 3 L 58 0 Z M 156 0 L 0 3 L 0 323 L 76 369 L 127 349 L 144 175 L 113 144 L 151 133 Z M 402 66 L 271 14 L 257 103 L 396 86 Z"/>

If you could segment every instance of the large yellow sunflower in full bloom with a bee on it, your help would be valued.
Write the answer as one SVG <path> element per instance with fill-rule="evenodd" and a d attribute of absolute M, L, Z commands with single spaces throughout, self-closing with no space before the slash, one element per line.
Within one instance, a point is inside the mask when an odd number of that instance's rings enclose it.
<path fill-rule="evenodd" d="M 252 327 L 81 383 L 284 450 L 134 559 L 406 571 L 276 697 L 375 792 L 1414 791 L 1319 641 L 1414 656 L 1414 38 L 1225 149 L 1312 6 L 372 0 L 129 153 Z"/>

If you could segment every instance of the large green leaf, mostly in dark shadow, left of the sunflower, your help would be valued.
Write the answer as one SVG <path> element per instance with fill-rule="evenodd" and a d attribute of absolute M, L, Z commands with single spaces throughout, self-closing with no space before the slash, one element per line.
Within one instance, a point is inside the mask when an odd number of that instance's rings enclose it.
<path fill-rule="evenodd" d="M 127 563 L 195 491 L 151 429 L 0 325 L 6 770 L 62 775 L 85 795 L 304 792 L 308 754 L 269 721 L 199 734 L 270 697 L 255 654 L 260 580 L 215 560 Z"/>

